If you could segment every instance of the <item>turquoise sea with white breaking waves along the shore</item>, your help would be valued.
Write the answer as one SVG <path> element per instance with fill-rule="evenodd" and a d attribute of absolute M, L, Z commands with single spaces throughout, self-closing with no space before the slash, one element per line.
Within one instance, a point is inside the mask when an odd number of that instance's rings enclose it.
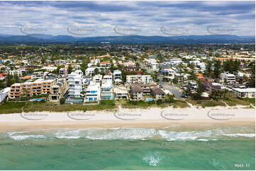
<path fill-rule="evenodd" d="M 255 170 L 255 127 L 16 131 L 0 151 L 1 170 Z"/>

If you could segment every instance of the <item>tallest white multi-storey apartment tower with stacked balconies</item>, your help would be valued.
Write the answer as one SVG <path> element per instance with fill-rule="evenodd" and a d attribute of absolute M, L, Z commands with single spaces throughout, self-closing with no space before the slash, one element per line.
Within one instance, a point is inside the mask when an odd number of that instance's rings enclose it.
<path fill-rule="evenodd" d="M 81 92 L 84 90 L 81 70 L 76 70 L 68 75 L 68 89 L 69 98 L 81 98 Z"/>

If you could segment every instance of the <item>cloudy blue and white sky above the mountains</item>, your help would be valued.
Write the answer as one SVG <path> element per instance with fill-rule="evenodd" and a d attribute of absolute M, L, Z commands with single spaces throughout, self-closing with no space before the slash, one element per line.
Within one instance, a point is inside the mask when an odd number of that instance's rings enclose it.
<path fill-rule="evenodd" d="M 255 35 L 255 1 L 0 1 L 0 34 Z"/>

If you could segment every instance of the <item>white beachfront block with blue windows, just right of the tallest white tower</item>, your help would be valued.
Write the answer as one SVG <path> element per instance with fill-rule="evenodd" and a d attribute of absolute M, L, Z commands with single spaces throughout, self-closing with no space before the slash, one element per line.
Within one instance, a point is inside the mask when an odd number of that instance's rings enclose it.
<path fill-rule="evenodd" d="M 84 102 L 99 102 L 101 98 L 101 85 L 91 81 L 87 90 L 85 91 Z"/>

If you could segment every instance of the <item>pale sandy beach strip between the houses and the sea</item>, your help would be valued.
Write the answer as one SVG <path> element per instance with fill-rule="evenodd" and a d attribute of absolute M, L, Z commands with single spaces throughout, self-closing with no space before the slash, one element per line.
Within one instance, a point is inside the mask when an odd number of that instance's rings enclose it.
<path fill-rule="evenodd" d="M 255 109 L 243 106 L 206 108 L 150 108 L 121 109 L 117 112 L 33 112 L 0 115 L 0 131 L 26 131 L 37 129 L 83 129 L 165 126 L 196 126 L 211 128 L 223 125 L 255 124 Z"/>

